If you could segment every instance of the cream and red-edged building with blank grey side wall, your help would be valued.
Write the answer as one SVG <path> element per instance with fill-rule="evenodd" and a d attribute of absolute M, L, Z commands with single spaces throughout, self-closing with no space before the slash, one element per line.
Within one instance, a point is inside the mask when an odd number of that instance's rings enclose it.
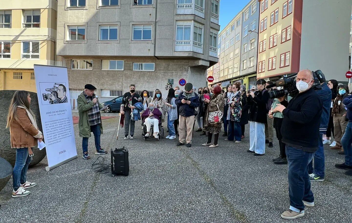
<path fill-rule="evenodd" d="M 320 69 L 346 81 L 350 0 L 260 0 L 257 78 Z"/>

